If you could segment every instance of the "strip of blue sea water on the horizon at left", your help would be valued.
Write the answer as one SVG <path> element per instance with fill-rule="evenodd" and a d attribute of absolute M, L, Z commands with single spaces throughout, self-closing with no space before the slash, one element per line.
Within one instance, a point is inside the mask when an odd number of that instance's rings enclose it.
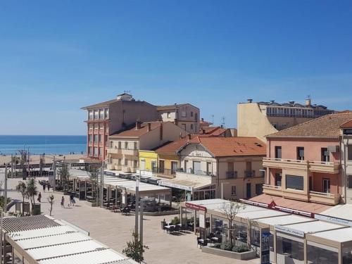
<path fill-rule="evenodd" d="M 69 154 L 87 151 L 87 136 L 0 135 L 0 155 L 18 154 L 25 148 L 32 154 Z"/>

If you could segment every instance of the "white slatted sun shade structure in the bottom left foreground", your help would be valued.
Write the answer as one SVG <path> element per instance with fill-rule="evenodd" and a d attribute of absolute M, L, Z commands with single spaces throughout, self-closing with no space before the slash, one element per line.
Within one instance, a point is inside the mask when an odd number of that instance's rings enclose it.
<path fill-rule="evenodd" d="M 4 230 L 8 227 L 15 230 L 13 222 L 18 224 L 18 231 L 5 233 L 5 240 L 13 249 L 10 252 L 14 263 L 136 264 L 134 260 L 82 233 L 80 228 L 75 229 L 74 225 L 65 225 L 65 222 L 49 217 L 42 218 L 40 220 L 45 220 L 47 227 L 34 225 L 33 230 L 24 229 L 21 222 L 38 220 L 36 217 L 8 218 L 5 221 L 7 225 Z M 52 226 L 54 224 L 56 226 Z"/>

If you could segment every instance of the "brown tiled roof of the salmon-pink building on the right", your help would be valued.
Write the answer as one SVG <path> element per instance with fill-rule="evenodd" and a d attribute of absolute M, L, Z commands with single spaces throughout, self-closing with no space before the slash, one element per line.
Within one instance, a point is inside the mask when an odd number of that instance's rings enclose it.
<path fill-rule="evenodd" d="M 352 119 L 352 113 L 334 113 L 304 122 L 286 130 L 281 130 L 267 137 L 320 137 L 338 138 L 340 126 Z"/>

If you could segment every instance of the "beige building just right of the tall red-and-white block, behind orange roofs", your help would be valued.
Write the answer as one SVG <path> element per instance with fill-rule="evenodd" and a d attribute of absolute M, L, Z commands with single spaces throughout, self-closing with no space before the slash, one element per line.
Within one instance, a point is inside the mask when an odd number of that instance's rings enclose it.
<path fill-rule="evenodd" d="M 190 103 L 175 103 L 170 106 L 158 106 L 157 110 L 164 122 L 175 122 L 190 134 L 199 134 L 200 111 L 196 106 Z"/>

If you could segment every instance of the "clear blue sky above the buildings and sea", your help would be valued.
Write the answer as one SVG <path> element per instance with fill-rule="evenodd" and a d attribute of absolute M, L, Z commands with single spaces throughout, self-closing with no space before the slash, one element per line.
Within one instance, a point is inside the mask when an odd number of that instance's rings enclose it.
<path fill-rule="evenodd" d="M 129 90 L 236 127 L 240 101 L 352 108 L 352 1 L 2 1 L 0 134 L 85 134 Z"/>

